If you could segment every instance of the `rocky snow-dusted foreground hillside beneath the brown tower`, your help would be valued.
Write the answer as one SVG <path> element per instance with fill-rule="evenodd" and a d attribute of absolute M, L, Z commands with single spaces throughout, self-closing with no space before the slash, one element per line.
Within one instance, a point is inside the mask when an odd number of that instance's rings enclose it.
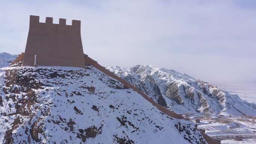
<path fill-rule="evenodd" d="M 88 66 L 0 68 L 0 144 L 205 144 L 195 124 L 168 117 Z"/>

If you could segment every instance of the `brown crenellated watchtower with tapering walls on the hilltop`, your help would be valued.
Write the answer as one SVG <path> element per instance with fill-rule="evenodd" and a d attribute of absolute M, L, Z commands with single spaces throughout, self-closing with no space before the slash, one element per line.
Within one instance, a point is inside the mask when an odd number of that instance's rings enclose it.
<path fill-rule="evenodd" d="M 66 25 L 66 19 L 53 24 L 52 18 L 45 23 L 39 22 L 39 16 L 30 16 L 27 45 L 23 66 L 37 65 L 85 67 L 83 46 L 80 33 L 80 21 L 72 20 Z"/>

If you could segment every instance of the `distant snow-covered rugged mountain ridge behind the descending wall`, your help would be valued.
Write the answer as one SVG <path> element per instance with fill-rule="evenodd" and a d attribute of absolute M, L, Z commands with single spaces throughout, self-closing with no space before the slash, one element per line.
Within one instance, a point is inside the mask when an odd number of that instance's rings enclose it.
<path fill-rule="evenodd" d="M 153 65 L 108 67 L 164 107 L 182 114 L 256 116 L 256 105 L 187 74 Z"/>

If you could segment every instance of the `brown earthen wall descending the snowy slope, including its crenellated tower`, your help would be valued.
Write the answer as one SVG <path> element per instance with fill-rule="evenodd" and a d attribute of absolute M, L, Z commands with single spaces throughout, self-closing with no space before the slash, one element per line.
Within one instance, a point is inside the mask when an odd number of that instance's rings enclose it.
<path fill-rule="evenodd" d="M 68 34 L 71 35 L 65 36 Z M 68 40 L 69 38 L 70 40 Z M 57 41 L 57 43 L 54 43 L 54 41 Z M 41 66 L 85 68 L 86 64 L 92 65 L 107 76 L 118 80 L 127 88 L 136 91 L 138 94 L 143 96 L 143 98 L 168 116 L 176 119 L 188 120 L 187 118 L 183 117 L 182 114 L 174 113 L 173 111 L 162 107 L 131 83 L 128 83 L 121 77 L 116 76 L 114 73 L 98 64 L 97 61 L 84 54 L 80 34 L 80 21 L 73 20 L 72 25 L 66 25 L 66 20 L 60 19 L 60 24 L 53 24 L 52 18 L 47 17 L 46 23 L 41 23 L 39 22 L 39 16 L 30 16 L 30 28 L 25 53 L 18 55 L 18 57 L 11 64 L 22 62 L 22 66 L 32 66 L 34 63 L 34 55 L 38 55 L 37 64 Z M 220 144 L 213 138 L 204 134 L 204 132 L 201 132 L 201 134 L 208 144 Z"/>

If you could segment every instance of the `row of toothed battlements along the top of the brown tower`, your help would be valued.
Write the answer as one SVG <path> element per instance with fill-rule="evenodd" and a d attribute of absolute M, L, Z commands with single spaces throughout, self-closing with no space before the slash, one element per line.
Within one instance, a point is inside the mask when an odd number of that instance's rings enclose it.
<path fill-rule="evenodd" d="M 33 24 L 54 24 L 53 23 L 53 18 L 51 17 L 46 17 L 45 19 L 45 23 L 43 22 L 39 22 L 39 16 L 34 16 L 34 15 L 30 15 L 30 25 Z M 55 24 L 55 25 L 66 25 L 66 19 L 60 18 L 59 19 L 59 24 Z M 70 26 L 70 25 L 67 25 Z M 78 20 L 72 20 L 72 25 L 71 26 L 75 26 L 75 27 L 81 27 L 81 21 Z"/>

